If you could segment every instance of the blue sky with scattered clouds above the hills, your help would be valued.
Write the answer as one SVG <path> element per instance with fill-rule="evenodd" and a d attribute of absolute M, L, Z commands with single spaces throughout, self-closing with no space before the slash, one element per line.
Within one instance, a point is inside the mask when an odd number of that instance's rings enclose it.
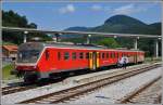
<path fill-rule="evenodd" d="M 135 17 L 146 24 L 161 22 L 160 2 L 2 2 L 2 10 L 25 15 L 39 29 L 53 30 L 99 26 L 117 14 Z"/>

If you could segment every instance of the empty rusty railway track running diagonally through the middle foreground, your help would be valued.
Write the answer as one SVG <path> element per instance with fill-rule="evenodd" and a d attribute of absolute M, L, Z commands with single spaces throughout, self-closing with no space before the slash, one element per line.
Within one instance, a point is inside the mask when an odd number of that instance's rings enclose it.
<path fill-rule="evenodd" d="M 91 91 L 96 91 L 97 89 L 108 86 L 110 83 L 120 81 L 122 79 L 135 76 L 137 74 L 160 67 L 161 65 L 155 64 L 155 65 L 150 65 L 148 67 L 143 67 L 143 68 L 138 68 L 135 70 L 130 70 L 130 71 L 125 71 L 105 79 L 101 79 L 98 81 L 93 81 L 93 82 L 89 82 L 89 83 L 85 83 L 85 84 L 80 84 L 77 87 L 73 87 L 66 90 L 62 90 L 62 91 L 58 91 L 54 93 L 50 93 L 50 94 L 46 94 L 39 97 L 35 97 L 32 100 L 27 100 L 27 101 L 23 101 L 20 102 L 18 104 L 57 104 L 57 103 L 64 103 L 73 97 L 78 97 L 79 95 L 83 95 L 87 92 L 91 92 Z"/>

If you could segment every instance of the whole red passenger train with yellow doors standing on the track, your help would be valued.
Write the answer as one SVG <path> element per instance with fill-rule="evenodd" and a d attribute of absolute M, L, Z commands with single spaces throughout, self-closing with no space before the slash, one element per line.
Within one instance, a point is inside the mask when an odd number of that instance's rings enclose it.
<path fill-rule="evenodd" d="M 145 52 L 127 49 L 108 49 L 89 44 L 65 44 L 46 42 L 26 42 L 18 47 L 15 69 L 16 76 L 23 76 L 25 82 L 52 78 L 76 70 L 96 70 L 117 65 L 123 56 L 128 64 L 142 63 Z"/>

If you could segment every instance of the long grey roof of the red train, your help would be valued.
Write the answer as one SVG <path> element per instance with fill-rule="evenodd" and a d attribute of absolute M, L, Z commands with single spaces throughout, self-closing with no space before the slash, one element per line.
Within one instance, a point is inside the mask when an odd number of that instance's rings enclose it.
<path fill-rule="evenodd" d="M 93 44 L 67 44 L 67 43 L 57 43 L 57 42 L 52 42 L 52 43 L 47 43 L 47 42 L 26 42 L 23 43 L 25 44 L 33 44 L 32 47 L 34 47 L 34 44 L 36 45 L 41 45 L 41 47 L 54 47 L 54 48 L 70 48 L 70 49 L 87 49 L 87 50 L 113 50 L 113 51 L 139 51 L 139 50 L 128 50 L 128 49 L 109 49 L 106 47 L 98 47 L 98 45 L 93 45 Z M 139 51 L 142 52 L 142 51 Z"/>

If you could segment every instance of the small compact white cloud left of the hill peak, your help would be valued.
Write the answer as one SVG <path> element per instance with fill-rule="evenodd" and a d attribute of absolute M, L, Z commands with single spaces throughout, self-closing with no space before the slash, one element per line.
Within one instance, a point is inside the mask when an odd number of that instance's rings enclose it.
<path fill-rule="evenodd" d="M 75 6 L 73 4 L 67 4 L 66 6 L 61 8 L 59 11 L 60 13 L 73 13 L 75 12 Z"/>

